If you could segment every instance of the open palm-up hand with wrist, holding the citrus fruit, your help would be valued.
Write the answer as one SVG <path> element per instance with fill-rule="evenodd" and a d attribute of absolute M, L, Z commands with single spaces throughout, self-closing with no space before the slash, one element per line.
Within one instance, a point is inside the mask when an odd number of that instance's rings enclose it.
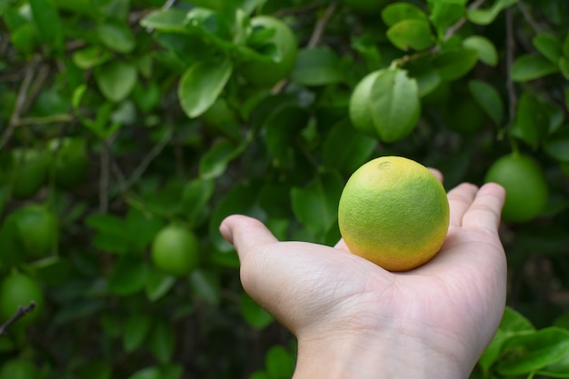
<path fill-rule="evenodd" d="M 494 184 L 451 190 L 441 251 L 404 273 L 343 241 L 278 242 L 244 215 L 220 230 L 239 254 L 245 291 L 296 336 L 295 379 L 467 378 L 504 313 L 504 196 Z"/>

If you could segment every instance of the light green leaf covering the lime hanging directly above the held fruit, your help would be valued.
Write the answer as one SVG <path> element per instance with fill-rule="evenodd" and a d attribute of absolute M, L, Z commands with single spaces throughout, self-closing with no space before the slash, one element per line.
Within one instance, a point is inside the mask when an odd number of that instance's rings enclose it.
<path fill-rule="evenodd" d="M 421 113 L 417 82 L 405 70 L 382 70 L 372 86 L 371 108 L 375 130 L 384 142 L 404 138 Z"/>

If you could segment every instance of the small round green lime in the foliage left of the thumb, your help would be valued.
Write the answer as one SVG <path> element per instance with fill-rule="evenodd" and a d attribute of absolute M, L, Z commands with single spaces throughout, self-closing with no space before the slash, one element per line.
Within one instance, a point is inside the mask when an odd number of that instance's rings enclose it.
<path fill-rule="evenodd" d="M 192 232 L 171 224 L 156 234 L 151 254 L 155 266 L 165 274 L 184 276 L 198 264 L 199 245 Z"/>

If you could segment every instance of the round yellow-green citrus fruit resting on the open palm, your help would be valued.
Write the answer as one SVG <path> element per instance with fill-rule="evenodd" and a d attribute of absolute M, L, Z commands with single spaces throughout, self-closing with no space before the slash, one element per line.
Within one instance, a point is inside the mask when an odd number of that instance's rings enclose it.
<path fill-rule="evenodd" d="M 424 165 L 401 156 L 375 158 L 350 176 L 338 224 L 353 254 L 389 271 L 428 262 L 448 231 L 443 185 Z"/>

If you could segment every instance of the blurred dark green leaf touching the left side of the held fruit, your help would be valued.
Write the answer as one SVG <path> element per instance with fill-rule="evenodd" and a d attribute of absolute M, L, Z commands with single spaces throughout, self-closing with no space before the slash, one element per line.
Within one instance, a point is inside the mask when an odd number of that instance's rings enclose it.
<path fill-rule="evenodd" d="M 294 187 L 291 191 L 294 215 L 314 232 L 328 231 L 337 220 L 343 188 L 342 180 L 331 173 L 316 177 L 304 188 Z"/>

